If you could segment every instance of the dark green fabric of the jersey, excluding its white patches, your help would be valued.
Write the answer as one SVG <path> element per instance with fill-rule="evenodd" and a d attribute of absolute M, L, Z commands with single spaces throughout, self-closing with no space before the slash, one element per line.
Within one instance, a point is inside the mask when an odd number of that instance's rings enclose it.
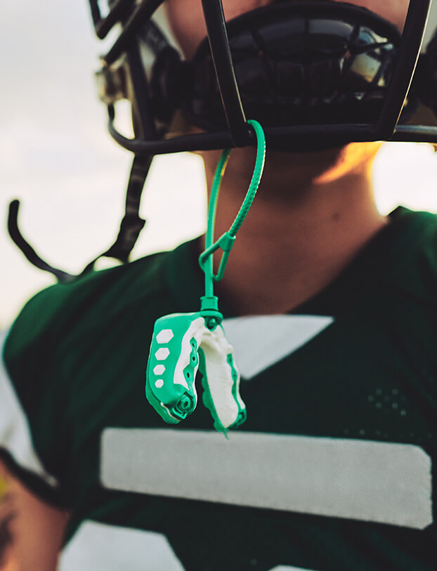
<path fill-rule="evenodd" d="M 39 458 L 74 508 L 70 534 L 84 519 L 161 532 L 190 571 L 435 570 L 435 522 L 412 530 L 100 486 L 105 427 L 165 428 L 143 397 L 148 348 L 157 318 L 199 309 L 197 246 L 48 288 L 11 330 L 8 371 Z M 332 326 L 242 383 L 248 417 L 239 430 L 415 444 L 431 456 L 436 482 L 436 286 L 437 219 L 399 208 L 294 312 L 333 316 Z M 209 411 L 197 406 L 183 428 L 211 429 Z"/>

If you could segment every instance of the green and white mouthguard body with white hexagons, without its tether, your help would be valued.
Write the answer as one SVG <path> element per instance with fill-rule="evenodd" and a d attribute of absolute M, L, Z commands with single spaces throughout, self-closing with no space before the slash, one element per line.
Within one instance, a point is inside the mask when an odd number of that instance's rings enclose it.
<path fill-rule="evenodd" d="M 145 394 L 164 421 L 183 421 L 197 404 L 195 379 L 199 371 L 203 402 L 214 418 L 214 428 L 226 432 L 244 422 L 246 407 L 240 397 L 233 347 L 217 323 L 216 313 L 212 329 L 210 319 L 197 312 L 166 315 L 156 321 Z"/>

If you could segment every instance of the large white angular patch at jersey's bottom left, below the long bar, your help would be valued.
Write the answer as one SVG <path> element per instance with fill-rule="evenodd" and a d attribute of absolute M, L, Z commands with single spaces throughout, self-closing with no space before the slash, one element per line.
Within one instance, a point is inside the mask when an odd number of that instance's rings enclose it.
<path fill-rule="evenodd" d="M 167 537 L 84 521 L 60 556 L 58 571 L 183 571 Z"/>

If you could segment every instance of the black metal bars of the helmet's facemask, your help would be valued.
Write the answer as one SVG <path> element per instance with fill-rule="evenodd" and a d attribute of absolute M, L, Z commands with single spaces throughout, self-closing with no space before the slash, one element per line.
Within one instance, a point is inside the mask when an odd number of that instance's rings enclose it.
<path fill-rule="evenodd" d="M 90 0 L 93 15 L 98 10 L 97 0 Z M 133 10 L 123 30 L 110 51 L 103 56 L 105 65 L 112 65 L 122 56 L 128 46 L 134 46 L 135 34 L 141 29 L 145 20 L 150 18 L 162 0 L 143 0 Z M 384 107 L 376 124 L 330 124 L 304 125 L 299 127 L 268 127 L 266 139 L 275 142 L 275 147 L 281 141 L 295 141 L 296 150 L 299 146 L 311 145 L 311 141 L 323 137 L 330 146 L 341 146 L 352 141 L 437 141 L 437 128 L 419 125 L 398 125 L 397 122 L 403 108 L 405 97 L 415 71 L 419 57 L 422 36 L 426 25 L 430 0 L 411 0 L 405 20 L 403 36 L 398 51 L 396 66 L 393 71 L 391 84 L 386 95 Z M 110 30 L 110 23 L 115 21 L 113 12 L 117 9 L 128 11 L 132 2 L 119 0 L 106 18 L 95 18 L 96 31 Z M 242 108 L 240 92 L 233 70 L 232 56 L 226 32 L 226 21 L 223 15 L 221 0 L 202 0 L 204 19 L 207 24 L 209 45 L 218 78 L 223 109 L 229 129 L 202 134 L 176 136 L 173 139 L 127 139 L 122 136 L 114 125 L 115 109 L 108 105 L 109 131 L 111 136 L 124 148 L 136 155 L 175 153 L 183 150 L 208 150 L 226 146 L 249 146 L 254 144 L 253 135 L 247 127 L 244 109 Z M 129 48 L 130 49 L 130 48 Z"/>

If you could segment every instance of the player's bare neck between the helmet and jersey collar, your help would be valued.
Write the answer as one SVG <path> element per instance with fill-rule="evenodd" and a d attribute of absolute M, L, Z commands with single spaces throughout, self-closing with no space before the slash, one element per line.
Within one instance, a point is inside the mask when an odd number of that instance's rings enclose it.
<path fill-rule="evenodd" d="M 216 236 L 228 230 L 242 202 L 240 182 L 238 188 L 232 178 L 223 182 Z M 366 169 L 288 191 L 268 184 L 263 181 L 217 286 L 238 314 L 282 313 L 310 299 L 386 224 Z"/>

